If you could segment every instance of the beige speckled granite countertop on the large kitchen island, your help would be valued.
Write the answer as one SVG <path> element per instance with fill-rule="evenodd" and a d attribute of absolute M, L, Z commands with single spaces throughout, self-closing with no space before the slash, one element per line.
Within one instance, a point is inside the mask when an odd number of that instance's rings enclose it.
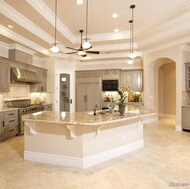
<path fill-rule="evenodd" d="M 32 122 L 62 123 L 67 125 L 96 126 L 108 122 L 124 121 L 150 115 L 156 115 L 156 113 L 144 106 L 135 106 L 134 108 L 130 107 L 130 109 L 126 107 L 126 112 L 122 116 L 117 111 L 112 113 L 106 111 L 97 111 L 97 115 L 93 115 L 93 112 L 43 111 L 24 115 L 23 120 Z"/>

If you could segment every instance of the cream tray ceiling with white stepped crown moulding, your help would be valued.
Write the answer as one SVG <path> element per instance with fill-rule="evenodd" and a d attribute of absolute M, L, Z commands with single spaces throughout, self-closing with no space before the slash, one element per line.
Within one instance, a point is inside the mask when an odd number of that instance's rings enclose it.
<path fill-rule="evenodd" d="M 126 59 L 130 49 L 130 5 L 134 9 L 134 49 L 138 56 L 173 45 L 190 43 L 190 0 L 89 0 L 88 38 L 100 54 L 82 58 L 65 48 L 80 47 L 79 30 L 86 30 L 86 0 L 57 0 L 57 42 L 60 57 L 86 61 Z M 37 56 L 54 55 L 54 0 L 0 0 L 0 43 L 19 44 Z M 112 14 L 117 13 L 117 18 Z M 13 26 L 9 28 L 8 25 Z M 119 32 L 114 32 L 119 29 Z M 85 37 L 85 32 L 84 36 Z"/>

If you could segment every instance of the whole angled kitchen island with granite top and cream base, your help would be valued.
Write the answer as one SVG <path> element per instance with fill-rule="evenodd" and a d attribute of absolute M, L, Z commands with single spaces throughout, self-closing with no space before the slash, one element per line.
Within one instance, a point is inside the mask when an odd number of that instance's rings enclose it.
<path fill-rule="evenodd" d="M 23 116 L 24 159 L 87 168 L 144 146 L 143 123 L 157 120 L 144 106 L 119 112 L 43 111 Z"/>

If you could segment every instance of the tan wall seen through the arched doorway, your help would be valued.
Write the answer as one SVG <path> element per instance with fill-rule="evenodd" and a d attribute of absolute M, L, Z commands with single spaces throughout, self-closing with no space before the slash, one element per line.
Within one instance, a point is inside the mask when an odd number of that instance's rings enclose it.
<path fill-rule="evenodd" d="M 163 117 L 176 115 L 176 68 L 175 63 L 163 64 L 158 74 L 158 113 Z"/>

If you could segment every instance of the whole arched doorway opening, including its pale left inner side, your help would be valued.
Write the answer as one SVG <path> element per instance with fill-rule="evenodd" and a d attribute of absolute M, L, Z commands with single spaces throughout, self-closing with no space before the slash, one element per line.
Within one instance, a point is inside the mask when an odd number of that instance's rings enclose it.
<path fill-rule="evenodd" d="M 154 60 L 145 70 L 145 105 L 158 116 L 176 118 L 176 72 L 176 63 L 169 58 Z"/>

